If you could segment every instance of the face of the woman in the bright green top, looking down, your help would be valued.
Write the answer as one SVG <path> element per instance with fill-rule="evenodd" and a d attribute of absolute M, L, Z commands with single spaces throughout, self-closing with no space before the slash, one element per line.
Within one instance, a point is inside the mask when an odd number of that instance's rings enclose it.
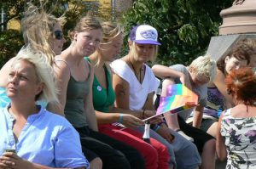
<path fill-rule="evenodd" d="M 102 52 L 102 59 L 104 61 L 113 61 L 115 57 L 120 53 L 120 49 L 123 45 L 123 35 L 119 34 L 116 37 L 110 39 L 109 42 L 103 42 L 100 46 Z"/>

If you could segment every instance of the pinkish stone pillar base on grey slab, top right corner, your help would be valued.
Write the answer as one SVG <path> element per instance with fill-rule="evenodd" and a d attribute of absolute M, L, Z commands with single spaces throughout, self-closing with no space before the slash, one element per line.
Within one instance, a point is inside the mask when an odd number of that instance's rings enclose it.
<path fill-rule="evenodd" d="M 236 0 L 233 6 L 220 12 L 223 24 L 219 36 L 212 37 L 207 54 L 218 60 L 242 38 L 256 38 L 256 0 Z"/>

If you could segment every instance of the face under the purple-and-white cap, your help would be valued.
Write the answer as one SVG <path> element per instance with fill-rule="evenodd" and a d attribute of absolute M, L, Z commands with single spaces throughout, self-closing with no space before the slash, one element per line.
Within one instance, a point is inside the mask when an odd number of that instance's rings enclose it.
<path fill-rule="evenodd" d="M 150 60 L 154 54 L 154 45 L 153 44 L 136 44 L 137 50 L 137 61 L 147 62 Z"/>

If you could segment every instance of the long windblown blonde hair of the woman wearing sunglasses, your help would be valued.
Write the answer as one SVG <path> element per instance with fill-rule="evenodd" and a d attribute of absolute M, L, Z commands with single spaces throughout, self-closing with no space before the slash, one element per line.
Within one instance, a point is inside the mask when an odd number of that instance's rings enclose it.
<path fill-rule="evenodd" d="M 44 53 L 50 65 L 53 65 L 55 57 L 55 52 L 50 45 L 55 23 L 64 25 L 66 18 L 63 15 L 56 18 L 52 14 L 47 14 L 44 11 L 44 4 L 38 8 L 28 3 L 24 18 L 21 20 L 21 31 L 26 47 Z"/>

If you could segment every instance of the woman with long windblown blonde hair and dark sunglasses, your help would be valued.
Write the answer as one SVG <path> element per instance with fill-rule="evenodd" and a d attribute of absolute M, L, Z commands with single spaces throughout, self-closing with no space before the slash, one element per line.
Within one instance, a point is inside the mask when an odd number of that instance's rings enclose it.
<path fill-rule="evenodd" d="M 25 42 L 23 48 L 31 48 L 34 52 L 43 53 L 47 63 L 53 65 L 55 55 L 61 54 L 63 43 L 66 42 L 62 32 L 65 22 L 66 19 L 63 16 L 56 18 L 52 14 L 47 14 L 43 4 L 38 8 L 29 3 L 21 20 L 21 31 Z M 9 59 L 0 70 L 1 107 L 9 103 L 4 87 L 7 84 L 8 72 L 14 59 L 15 57 Z"/>

